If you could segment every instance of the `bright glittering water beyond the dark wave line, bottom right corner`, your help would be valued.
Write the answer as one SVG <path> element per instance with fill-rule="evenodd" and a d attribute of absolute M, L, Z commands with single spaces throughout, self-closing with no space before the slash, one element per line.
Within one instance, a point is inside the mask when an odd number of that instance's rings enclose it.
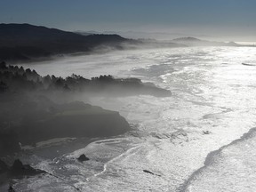
<path fill-rule="evenodd" d="M 255 191 L 255 129 L 242 139 L 212 152 L 205 166 L 189 180 L 184 191 Z"/>

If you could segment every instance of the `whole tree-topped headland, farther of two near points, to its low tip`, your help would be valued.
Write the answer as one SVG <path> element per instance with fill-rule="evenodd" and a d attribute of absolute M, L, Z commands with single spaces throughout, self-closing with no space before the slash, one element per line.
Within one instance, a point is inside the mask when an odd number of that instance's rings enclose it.
<path fill-rule="evenodd" d="M 138 78 L 114 78 L 98 76 L 91 79 L 73 74 L 65 78 L 61 76 L 40 76 L 36 70 L 0 63 L 0 92 L 83 92 L 89 96 L 131 96 L 153 95 L 169 97 L 172 93 L 156 87 L 155 84 L 142 83 Z"/>

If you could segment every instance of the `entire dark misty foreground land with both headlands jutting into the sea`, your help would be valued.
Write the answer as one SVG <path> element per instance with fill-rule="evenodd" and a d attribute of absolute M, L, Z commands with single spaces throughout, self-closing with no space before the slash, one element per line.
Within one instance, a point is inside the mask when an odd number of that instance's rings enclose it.
<path fill-rule="evenodd" d="M 109 137 L 131 129 L 118 112 L 83 102 L 90 98 L 171 96 L 170 91 L 138 78 L 40 76 L 34 69 L 5 62 L 0 69 L 2 156 L 42 140 Z"/>

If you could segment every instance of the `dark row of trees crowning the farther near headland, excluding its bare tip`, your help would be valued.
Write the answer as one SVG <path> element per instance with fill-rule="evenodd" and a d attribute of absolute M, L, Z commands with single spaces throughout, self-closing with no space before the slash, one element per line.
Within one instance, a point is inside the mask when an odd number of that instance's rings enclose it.
<path fill-rule="evenodd" d="M 4 61 L 0 63 L 0 92 L 13 91 L 96 91 L 104 85 L 135 85 L 142 84 L 137 78 L 119 78 L 113 76 L 92 77 L 92 79 L 84 78 L 73 74 L 63 78 L 61 76 L 40 76 L 36 70 L 23 68 L 22 66 L 7 65 Z"/>

